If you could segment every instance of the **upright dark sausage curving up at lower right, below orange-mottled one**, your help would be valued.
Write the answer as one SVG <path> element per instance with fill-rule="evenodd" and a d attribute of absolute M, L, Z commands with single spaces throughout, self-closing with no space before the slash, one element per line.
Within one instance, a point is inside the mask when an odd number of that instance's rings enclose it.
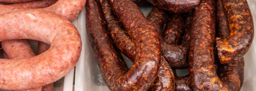
<path fill-rule="evenodd" d="M 213 0 L 202 0 L 194 11 L 189 73 L 195 91 L 238 91 L 243 83 L 243 59 L 224 65 L 217 75 L 214 67 L 215 5 Z"/>

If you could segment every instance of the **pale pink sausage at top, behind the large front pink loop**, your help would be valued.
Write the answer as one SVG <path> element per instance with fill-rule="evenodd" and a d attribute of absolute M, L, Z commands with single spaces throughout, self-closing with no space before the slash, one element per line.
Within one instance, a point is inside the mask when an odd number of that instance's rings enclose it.
<path fill-rule="evenodd" d="M 60 16 L 63 16 L 70 21 L 73 21 L 81 13 L 85 3 L 86 0 L 58 0 L 53 5 L 46 8 L 41 8 L 40 10 L 50 11 L 52 13 L 59 14 Z M 2 11 L 0 11 L 0 14 L 8 13 L 11 11 L 24 10 L 24 8 L 8 5 L 0 5 L 0 8 L 3 9 Z"/>

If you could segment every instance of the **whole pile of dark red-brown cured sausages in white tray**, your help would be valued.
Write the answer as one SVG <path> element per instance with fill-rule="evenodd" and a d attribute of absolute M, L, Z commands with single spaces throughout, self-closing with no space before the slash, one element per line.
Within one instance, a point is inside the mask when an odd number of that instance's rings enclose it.
<path fill-rule="evenodd" d="M 86 30 L 111 91 L 240 90 L 254 35 L 246 0 L 147 0 L 147 17 L 142 1 L 87 0 Z"/>

